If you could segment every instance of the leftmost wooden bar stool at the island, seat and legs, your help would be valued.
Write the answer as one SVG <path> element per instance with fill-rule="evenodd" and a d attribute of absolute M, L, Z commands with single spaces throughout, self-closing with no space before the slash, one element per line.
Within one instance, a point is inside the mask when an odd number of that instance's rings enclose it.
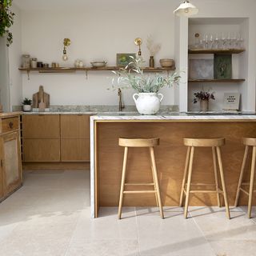
<path fill-rule="evenodd" d="M 122 214 L 122 199 L 123 194 L 142 194 L 142 193 L 154 193 L 157 204 L 160 209 L 160 215 L 162 218 L 162 202 L 160 197 L 160 189 L 158 184 L 158 172 L 154 158 L 154 146 L 159 145 L 159 138 L 119 138 L 119 146 L 125 147 L 125 153 L 122 165 L 122 182 L 120 189 L 120 198 L 118 206 L 118 218 L 121 218 Z M 153 175 L 153 183 L 126 183 L 126 163 L 128 157 L 128 148 L 130 147 L 148 147 L 150 150 L 150 161 Z M 154 186 L 154 190 L 125 190 L 125 186 Z"/>

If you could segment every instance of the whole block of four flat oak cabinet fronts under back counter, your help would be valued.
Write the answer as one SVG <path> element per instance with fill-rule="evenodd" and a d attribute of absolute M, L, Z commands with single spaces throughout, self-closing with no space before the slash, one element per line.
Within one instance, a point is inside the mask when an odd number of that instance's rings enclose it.
<path fill-rule="evenodd" d="M 89 162 L 90 115 L 25 114 L 24 162 Z"/>

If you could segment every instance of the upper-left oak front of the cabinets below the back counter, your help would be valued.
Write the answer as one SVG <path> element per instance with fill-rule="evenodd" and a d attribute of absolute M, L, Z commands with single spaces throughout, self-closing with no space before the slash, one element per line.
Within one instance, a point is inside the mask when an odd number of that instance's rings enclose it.
<path fill-rule="evenodd" d="M 60 138 L 59 114 L 31 114 L 22 117 L 23 138 Z"/>

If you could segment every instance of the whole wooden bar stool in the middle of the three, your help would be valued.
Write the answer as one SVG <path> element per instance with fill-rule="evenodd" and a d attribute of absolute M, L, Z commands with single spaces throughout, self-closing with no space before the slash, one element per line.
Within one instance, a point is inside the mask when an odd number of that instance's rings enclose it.
<path fill-rule="evenodd" d="M 187 218 L 190 193 L 198 193 L 198 192 L 199 193 L 216 193 L 219 207 L 220 207 L 219 194 L 223 194 L 224 202 L 226 206 L 226 217 L 230 218 L 230 209 L 229 209 L 229 204 L 228 204 L 227 195 L 226 195 L 226 185 L 225 185 L 225 179 L 223 174 L 222 157 L 221 157 L 221 150 L 220 150 L 220 146 L 224 144 L 225 144 L 225 138 L 184 138 L 184 145 L 188 146 L 188 148 L 187 148 L 187 154 L 186 154 L 184 176 L 182 180 L 180 206 L 182 207 L 183 198 L 184 198 L 184 195 L 186 195 L 185 211 L 184 211 L 185 218 Z M 210 146 L 212 148 L 213 160 L 214 160 L 215 184 L 206 184 L 206 183 L 191 184 L 192 166 L 193 166 L 193 160 L 194 160 L 194 148 L 198 146 Z M 218 157 L 218 166 L 217 166 L 216 152 Z M 219 169 L 221 182 L 222 182 L 222 190 L 218 186 L 218 169 Z M 187 183 L 186 183 L 186 180 L 187 180 Z M 215 186 L 215 190 L 190 190 L 190 186 L 193 186 L 193 185 Z M 185 186 L 186 186 L 186 189 L 185 189 Z"/>

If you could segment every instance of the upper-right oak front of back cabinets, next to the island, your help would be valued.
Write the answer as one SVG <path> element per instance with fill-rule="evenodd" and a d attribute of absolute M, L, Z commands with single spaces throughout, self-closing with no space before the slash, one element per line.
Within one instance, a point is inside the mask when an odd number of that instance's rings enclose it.
<path fill-rule="evenodd" d="M 90 115 L 62 114 L 61 138 L 90 138 Z"/>

